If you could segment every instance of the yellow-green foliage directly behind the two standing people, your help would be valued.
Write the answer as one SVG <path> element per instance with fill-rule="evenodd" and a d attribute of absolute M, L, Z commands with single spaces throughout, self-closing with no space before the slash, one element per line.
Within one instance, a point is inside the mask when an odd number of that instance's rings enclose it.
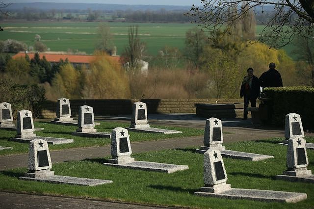
<path fill-rule="evenodd" d="M 240 68 L 246 72 L 249 67 L 254 69 L 254 75 L 260 77 L 267 71 L 270 62 L 276 64 L 280 72 L 284 86 L 295 85 L 297 69 L 294 61 L 283 50 L 272 50 L 263 43 L 249 44 L 239 54 L 238 63 Z"/>

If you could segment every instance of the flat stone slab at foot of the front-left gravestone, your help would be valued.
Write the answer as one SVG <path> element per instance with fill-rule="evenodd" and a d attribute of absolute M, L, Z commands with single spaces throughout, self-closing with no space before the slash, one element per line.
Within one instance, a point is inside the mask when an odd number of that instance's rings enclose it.
<path fill-rule="evenodd" d="M 40 177 L 40 178 L 20 177 L 19 179 L 27 180 L 27 181 L 37 181 L 37 182 L 47 182 L 47 183 L 66 183 L 66 184 L 84 185 L 84 186 L 97 186 L 101 184 L 112 183 L 112 181 L 110 180 L 86 179 L 86 178 L 57 176 L 57 175 L 48 176 L 48 177 Z"/>

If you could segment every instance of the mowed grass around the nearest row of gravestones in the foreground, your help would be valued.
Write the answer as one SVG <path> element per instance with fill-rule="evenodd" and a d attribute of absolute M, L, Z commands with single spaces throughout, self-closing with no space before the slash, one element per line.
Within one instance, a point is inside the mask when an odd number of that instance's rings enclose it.
<path fill-rule="evenodd" d="M 223 158 L 228 182 L 233 188 L 265 189 L 307 193 L 307 199 L 295 204 L 228 200 L 197 197 L 203 182 L 203 156 L 194 153 L 196 147 L 133 154 L 135 160 L 188 165 L 189 169 L 172 174 L 122 169 L 104 166 L 109 157 L 70 161 L 52 165 L 55 175 L 112 180 L 95 187 L 40 183 L 18 180 L 26 168 L 0 172 L 0 190 L 32 194 L 71 195 L 82 198 L 118 200 L 162 206 L 189 208 L 313 208 L 314 184 L 277 181 L 275 176 L 286 169 L 287 146 L 279 145 L 282 138 L 225 144 L 229 150 L 273 155 L 273 159 L 246 161 Z M 51 146 L 50 146 L 51 147 Z M 314 170 L 314 151 L 307 150 L 308 169 Z"/>

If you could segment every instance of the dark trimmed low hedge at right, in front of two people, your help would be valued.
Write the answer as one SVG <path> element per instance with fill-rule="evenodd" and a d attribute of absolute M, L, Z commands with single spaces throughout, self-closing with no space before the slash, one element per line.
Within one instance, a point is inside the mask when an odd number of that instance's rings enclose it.
<path fill-rule="evenodd" d="M 304 129 L 314 129 L 314 88 L 289 86 L 263 89 L 262 97 L 271 99 L 272 125 L 284 126 L 285 115 L 301 115 Z"/>

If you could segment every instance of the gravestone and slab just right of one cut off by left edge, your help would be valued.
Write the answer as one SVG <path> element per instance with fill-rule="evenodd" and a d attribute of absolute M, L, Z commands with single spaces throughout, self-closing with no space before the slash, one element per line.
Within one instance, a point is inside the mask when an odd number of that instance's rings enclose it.
<path fill-rule="evenodd" d="M 16 125 L 17 134 L 15 135 L 15 137 L 10 138 L 10 141 L 29 143 L 35 138 L 38 138 L 45 140 L 51 144 L 73 143 L 73 139 L 36 136 L 36 133 L 34 133 L 34 122 L 32 113 L 29 110 L 23 109 L 18 112 L 18 119 Z"/>

